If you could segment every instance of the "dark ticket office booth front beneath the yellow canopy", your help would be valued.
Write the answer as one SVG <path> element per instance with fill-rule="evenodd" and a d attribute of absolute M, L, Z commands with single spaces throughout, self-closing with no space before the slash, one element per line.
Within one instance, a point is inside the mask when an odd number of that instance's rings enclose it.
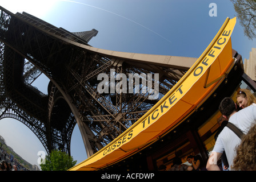
<path fill-rule="evenodd" d="M 156 171 L 162 164 L 169 169 L 175 156 L 188 164 L 188 155 L 200 155 L 203 169 L 209 152 L 213 150 L 214 136 L 219 129 L 217 123 L 217 118 L 221 115 L 218 110 L 219 103 L 224 97 L 231 97 L 236 101 L 237 91 L 241 88 L 250 89 L 252 93 L 256 92 L 255 82 L 243 71 L 242 57 L 237 55 L 237 52 L 233 55 L 238 60 L 237 63 L 202 105 L 183 118 L 177 126 L 159 136 L 156 142 L 138 148 L 134 154 L 99 170 Z"/>

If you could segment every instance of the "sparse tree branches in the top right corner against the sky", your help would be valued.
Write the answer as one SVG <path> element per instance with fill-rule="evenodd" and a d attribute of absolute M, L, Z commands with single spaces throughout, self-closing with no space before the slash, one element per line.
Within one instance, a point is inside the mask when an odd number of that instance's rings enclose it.
<path fill-rule="evenodd" d="M 234 3 L 237 18 L 245 35 L 253 40 L 256 38 L 256 0 L 230 0 Z"/>

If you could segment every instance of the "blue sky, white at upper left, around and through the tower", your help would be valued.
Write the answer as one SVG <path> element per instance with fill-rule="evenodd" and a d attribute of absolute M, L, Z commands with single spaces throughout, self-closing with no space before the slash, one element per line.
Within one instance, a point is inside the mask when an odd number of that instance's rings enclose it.
<path fill-rule="evenodd" d="M 217 16 L 210 16 L 210 3 L 217 5 Z M 25 11 L 70 32 L 95 28 L 93 47 L 113 51 L 156 55 L 199 57 L 227 17 L 234 18 L 229 0 L 0 0 L 12 13 Z M 231 35 L 233 49 L 249 59 L 256 40 L 249 40 L 237 24 Z M 46 93 L 48 80 L 34 83 Z M 0 135 L 31 164 L 37 164 L 38 151 L 45 151 L 37 137 L 14 119 L 0 121 Z M 79 130 L 71 139 L 71 155 L 78 163 L 87 158 Z M 38 164 L 37 164 L 38 165 Z"/>

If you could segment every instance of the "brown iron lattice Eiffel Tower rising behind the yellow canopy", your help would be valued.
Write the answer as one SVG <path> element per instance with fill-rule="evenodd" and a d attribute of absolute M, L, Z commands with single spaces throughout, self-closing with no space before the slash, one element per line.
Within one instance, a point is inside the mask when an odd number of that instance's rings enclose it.
<path fill-rule="evenodd" d="M 24 12 L 0 11 L 0 119 L 24 123 L 48 154 L 54 149 L 70 154 L 76 124 L 87 156 L 95 154 L 154 106 L 197 60 L 94 48 L 88 42 L 95 29 L 71 33 Z M 101 73 L 107 76 L 106 92 L 98 89 Z M 48 94 L 31 85 L 41 74 L 50 80 Z M 145 91 L 141 77 L 137 85 L 131 82 L 138 92 L 117 92 L 127 87 L 118 87 L 122 79 L 144 74 L 151 75 L 151 89 Z M 156 89 L 158 97 L 150 98 Z"/>

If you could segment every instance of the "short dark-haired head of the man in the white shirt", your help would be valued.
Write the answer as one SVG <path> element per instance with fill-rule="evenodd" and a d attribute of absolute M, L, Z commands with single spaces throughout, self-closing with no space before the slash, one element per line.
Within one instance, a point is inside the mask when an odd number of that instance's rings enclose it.
<path fill-rule="evenodd" d="M 229 119 L 230 115 L 236 111 L 237 105 L 230 97 L 225 97 L 219 104 L 219 111 L 226 119 Z"/>

